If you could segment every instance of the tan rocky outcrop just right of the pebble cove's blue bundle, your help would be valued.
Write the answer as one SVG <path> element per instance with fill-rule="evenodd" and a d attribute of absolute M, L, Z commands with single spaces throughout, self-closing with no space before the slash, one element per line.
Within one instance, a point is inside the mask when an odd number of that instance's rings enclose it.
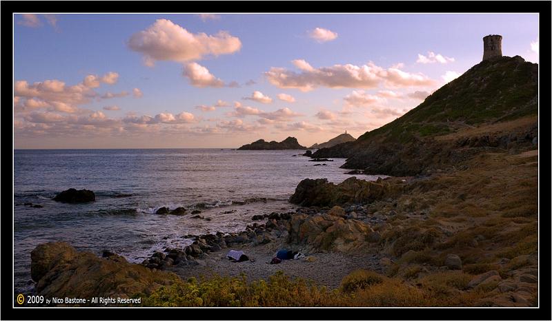
<path fill-rule="evenodd" d="M 366 247 L 373 233 L 369 225 L 359 220 L 346 220 L 332 214 L 300 214 L 289 220 L 286 242 L 319 251 L 351 252 Z"/>

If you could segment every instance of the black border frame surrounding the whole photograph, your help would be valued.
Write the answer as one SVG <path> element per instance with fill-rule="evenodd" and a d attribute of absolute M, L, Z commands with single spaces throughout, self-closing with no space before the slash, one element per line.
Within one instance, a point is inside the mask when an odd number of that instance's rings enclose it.
<path fill-rule="evenodd" d="M 550 192 L 548 188 L 541 188 L 540 191 L 540 308 L 253 308 L 235 310 L 225 308 L 195 308 L 195 309 L 152 309 L 152 308 L 75 308 L 75 309 L 51 309 L 51 308 L 33 308 L 18 309 L 12 307 L 12 219 L 13 211 L 12 196 L 8 191 L 12 189 L 13 181 L 8 179 L 8 166 L 12 167 L 13 158 L 13 110 L 12 107 L 12 68 L 8 69 L 8 63 L 13 66 L 12 52 L 7 48 L 12 48 L 13 24 L 12 13 L 14 12 L 148 12 L 152 8 L 159 8 L 156 12 L 539 12 L 540 13 L 540 132 L 544 135 L 539 137 L 540 149 L 540 183 L 545 182 L 544 187 L 550 186 L 550 166 L 551 156 L 551 1 L 308 1 L 308 2 L 284 2 L 284 1 L 1 1 L 1 25 L 2 30 L 1 45 L 3 45 L 3 56 L 1 65 L 3 66 L 1 74 L 1 96 L 2 105 L 2 141 L 1 152 L 4 157 L 0 157 L 3 163 L 2 169 L 4 178 L 1 184 L 5 192 L 1 194 L 4 202 L 1 203 L 3 223 L 1 238 L 1 251 L 3 264 L 0 265 L 1 280 L 3 286 L 1 289 L 2 300 L 0 300 L 1 312 L 0 318 L 10 320 L 102 320 L 105 318 L 121 320 L 155 320 L 158 318 L 166 320 L 177 319 L 231 319 L 231 320 L 279 320 L 279 319 L 302 319 L 302 320 L 551 320 L 551 207 L 549 203 Z M 280 10 L 277 10 L 281 8 Z M 290 10 L 293 8 L 293 10 Z M 299 9 L 300 8 L 300 9 Z M 340 10 L 342 8 L 342 10 Z M 216 10 L 215 10 L 216 9 Z M 347 9 L 347 10 L 344 10 Z M 8 94 L 9 93 L 9 94 Z M 10 111 L 10 114 L 8 114 Z M 11 119 L 11 120 L 10 120 Z M 10 135 L 8 135 L 10 134 Z M 10 138 L 10 141 L 8 141 Z M 10 151 L 10 148 L 12 149 Z M 0 155 L 1 155 L 0 152 Z M 10 158 L 8 158 L 10 154 Z M 1 176 L 0 176 L 1 177 Z M 11 186 L 10 186 L 11 185 Z M 8 202 L 9 200 L 9 202 Z M 542 200 L 545 200 L 544 202 Z M 11 263 L 8 264 L 8 263 Z M 8 287 L 8 283 L 10 286 Z M 113 313 L 113 312 L 117 313 Z M 244 313 L 245 312 L 245 313 Z"/>

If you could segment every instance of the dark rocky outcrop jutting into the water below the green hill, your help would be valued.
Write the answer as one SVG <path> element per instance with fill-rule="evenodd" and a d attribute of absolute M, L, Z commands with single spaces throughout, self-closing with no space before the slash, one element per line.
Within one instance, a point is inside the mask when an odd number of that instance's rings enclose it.
<path fill-rule="evenodd" d="M 346 203 L 372 203 L 374 200 L 397 196 L 406 184 L 398 180 L 375 182 L 347 178 L 335 185 L 326 178 L 302 180 L 290 197 L 290 203 L 301 206 L 333 206 Z"/>

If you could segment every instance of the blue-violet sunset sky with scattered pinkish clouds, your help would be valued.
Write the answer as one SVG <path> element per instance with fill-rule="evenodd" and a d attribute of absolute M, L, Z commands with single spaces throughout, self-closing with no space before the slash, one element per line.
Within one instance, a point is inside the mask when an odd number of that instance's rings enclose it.
<path fill-rule="evenodd" d="M 538 63 L 538 14 L 14 14 L 14 147 L 310 146 L 480 63 Z"/>

